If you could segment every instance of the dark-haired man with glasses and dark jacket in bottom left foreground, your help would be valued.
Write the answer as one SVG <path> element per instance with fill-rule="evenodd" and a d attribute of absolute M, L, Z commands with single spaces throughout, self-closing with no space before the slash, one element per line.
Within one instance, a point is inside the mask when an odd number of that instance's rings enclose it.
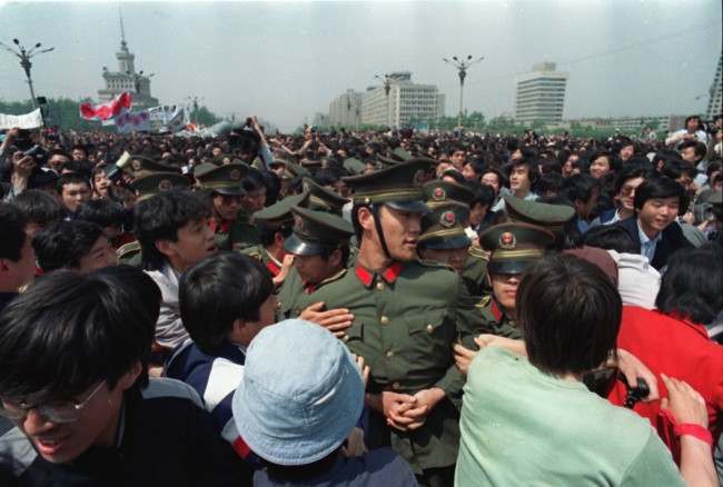
<path fill-rule="evenodd" d="M 141 271 L 57 272 L 0 317 L 0 469 L 22 486 L 232 486 L 245 466 L 188 386 L 147 375 L 160 292 Z M 10 484 L 13 485 L 13 484 Z"/>

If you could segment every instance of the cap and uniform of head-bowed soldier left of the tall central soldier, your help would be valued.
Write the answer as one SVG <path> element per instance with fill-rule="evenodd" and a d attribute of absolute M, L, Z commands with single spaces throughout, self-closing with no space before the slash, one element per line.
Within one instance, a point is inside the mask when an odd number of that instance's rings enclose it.
<path fill-rule="evenodd" d="M 297 256 L 316 256 L 326 250 L 335 250 L 349 245 L 354 235 L 351 223 L 327 212 L 294 207 L 294 232 L 286 239 L 286 251 Z M 345 262 L 343 262 L 344 265 Z M 324 286 L 337 281 L 346 274 L 343 267 L 320 282 L 306 282 L 296 268 L 293 268 L 279 290 L 279 314 L 283 318 L 297 317 L 304 308 L 299 302 L 314 301 L 313 295 Z M 308 306 L 308 305 L 307 305 Z"/>

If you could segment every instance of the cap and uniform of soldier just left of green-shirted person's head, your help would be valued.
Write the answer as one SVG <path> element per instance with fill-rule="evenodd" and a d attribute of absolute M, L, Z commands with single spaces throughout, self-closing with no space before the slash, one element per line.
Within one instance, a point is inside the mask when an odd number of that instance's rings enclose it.
<path fill-rule="evenodd" d="M 555 235 L 528 223 L 501 223 L 479 236 L 479 244 L 489 250 L 491 274 L 521 275 L 545 256 L 545 248 L 555 241 Z M 485 296 L 477 309 L 493 335 L 524 339 L 514 318 L 499 305 L 494 295 Z"/>

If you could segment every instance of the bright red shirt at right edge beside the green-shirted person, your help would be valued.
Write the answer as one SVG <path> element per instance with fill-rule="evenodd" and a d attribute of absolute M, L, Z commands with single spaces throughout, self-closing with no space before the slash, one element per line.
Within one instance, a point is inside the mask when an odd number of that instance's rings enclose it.
<path fill-rule="evenodd" d="M 723 409 L 723 346 L 709 338 L 705 327 L 660 311 L 624 306 L 617 346 L 655 374 L 661 397 L 667 396 L 661 374 L 685 380 L 697 390 L 707 405 L 709 428 L 717 441 L 721 426 L 716 423 Z M 608 399 L 622 406 L 626 394 L 625 385 L 618 382 Z M 658 400 L 637 402 L 634 410 L 651 421 L 680 461 L 680 444 L 670 421 L 658 415 L 660 405 Z"/>

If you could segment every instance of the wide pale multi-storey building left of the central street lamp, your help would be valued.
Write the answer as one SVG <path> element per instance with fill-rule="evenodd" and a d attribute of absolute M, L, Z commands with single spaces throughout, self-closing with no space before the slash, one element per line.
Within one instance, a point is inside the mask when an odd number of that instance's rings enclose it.
<path fill-rule="evenodd" d="M 409 71 L 393 72 L 389 96 L 384 85 L 369 87 L 361 100 L 361 122 L 402 127 L 412 120 L 432 121 L 444 115 L 444 95 L 434 85 L 412 82 Z"/>

